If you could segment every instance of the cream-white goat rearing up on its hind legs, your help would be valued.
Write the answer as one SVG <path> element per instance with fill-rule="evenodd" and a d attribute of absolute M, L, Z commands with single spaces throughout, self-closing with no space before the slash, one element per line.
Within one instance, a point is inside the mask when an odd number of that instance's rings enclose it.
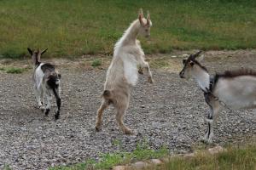
<path fill-rule="evenodd" d="M 103 111 L 108 108 L 108 105 L 112 104 L 117 110 L 116 121 L 120 129 L 125 134 L 132 133 L 131 129 L 125 127 L 123 116 L 129 105 L 131 87 L 137 83 L 138 65 L 146 68 L 148 82 L 153 83 L 148 62 L 144 59 L 143 49 L 137 40 L 137 36 L 149 37 L 151 26 L 152 22 L 149 13 L 147 19 L 144 19 L 141 9 L 138 19 L 131 23 L 131 26 L 125 31 L 123 37 L 115 44 L 113 60 L 108 68 L 104 92 L 102 94 L 102 105 L 97 111 L 96 131 L 99 131 L 102 126 Z"/>

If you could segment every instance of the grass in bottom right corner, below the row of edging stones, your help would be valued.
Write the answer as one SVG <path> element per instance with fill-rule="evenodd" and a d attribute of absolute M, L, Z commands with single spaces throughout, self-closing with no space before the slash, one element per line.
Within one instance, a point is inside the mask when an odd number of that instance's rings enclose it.
<path fill-rule="evenodd" d="M 192 158 L 174 157 L 160 167 L 148 170 L 255 170 L 256 144 L 242 147 L 228 147 L 227 151 L 217 155 L 199 152 Z"/>

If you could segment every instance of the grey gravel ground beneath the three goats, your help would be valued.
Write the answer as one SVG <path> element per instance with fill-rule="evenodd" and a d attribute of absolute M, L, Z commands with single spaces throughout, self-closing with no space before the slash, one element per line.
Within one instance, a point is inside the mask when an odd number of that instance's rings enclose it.
<path fill-rule="evenodd" d="M 255 51 L 236 57 L 242 53 L 208 52 L 204 65 L 211 72 L 241 66 L 255 69 Z M 216 54 L 223 57 L 211 57 Z M 14 169 L 46 169 L 89 157 L 98 159 L 100 153 L 119 150 L 113 144 L 116 141 L 127 151 L 147 140 L 153 149 L 165 144 L 171 153 L 186 152 L 204 136 L 208 107 L 203 94 L 194 81 L 186 82 L 177 73 L 153 69 L 153 85 L 140 76 L 125 115 L 125 124 L 136 134 L 126 136 L 117 127 L 112 107 L 104 113 L 102 131 L 96 133 L 94 129 L 106 69 L 78 70 L 63 65 L 60 70 L 63 103 L 57 122 L 53 117 L 55 105 L 49 117 L 36 108 L 31 71 L 20 75 L 0 72 L 0 169 L 4 164 Z M 254 140 L 254 112 L 222 111 L 213 142 Z"/>

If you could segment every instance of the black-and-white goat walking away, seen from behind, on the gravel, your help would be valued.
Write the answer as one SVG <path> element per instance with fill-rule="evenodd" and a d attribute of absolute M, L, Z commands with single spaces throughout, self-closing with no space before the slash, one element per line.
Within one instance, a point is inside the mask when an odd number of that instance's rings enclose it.
<path fill-rule="evenodd" d="M 32 55 L 33 62 L 33 82 L 34 82 L 34 93 L 37 98 L 38 107 L 42 111 L 44 111 L 45 116 L 48 116 L 49 109 L 51 106 L 52 94 L 55 95 L 56 103 L 57 103 L 57 111 L 55 112 L 55 120 L 60 118 L 60 110 L 61 110 L 61 74 L 58 74 L 55 71 L 55 65 L 51 65 L 49 63 L 41 63 L 40 58 L 41 55 L 44 54 L 47 49 L 40 52 L 39 50 L 33 51 L 30 48 L 27 48 L 29 54 Z M 44 108 L 44 94 L 47 98 L 47 105 Z"/>

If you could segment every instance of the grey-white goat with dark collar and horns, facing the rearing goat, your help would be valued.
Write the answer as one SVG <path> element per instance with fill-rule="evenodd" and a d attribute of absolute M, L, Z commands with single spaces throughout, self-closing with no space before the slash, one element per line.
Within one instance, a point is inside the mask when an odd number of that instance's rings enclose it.
<path fill-rule="evenodd" d="M 181 78 L 193 77 L 204 92 L 210 111 L 207 115 L 207 133 L 204 141 L 212 143 L 213 124 L 218 113 L 224 106 L 232 109 L 256 108 L 256 71 L 241 69 L 237 71 L 224 71 L 210 77 L 207 68 L 200 64 L 201 51 L 183 59 L 183 70 L 179 73 Z M 196 57 L 199 57 L 196 60 Z"/>

